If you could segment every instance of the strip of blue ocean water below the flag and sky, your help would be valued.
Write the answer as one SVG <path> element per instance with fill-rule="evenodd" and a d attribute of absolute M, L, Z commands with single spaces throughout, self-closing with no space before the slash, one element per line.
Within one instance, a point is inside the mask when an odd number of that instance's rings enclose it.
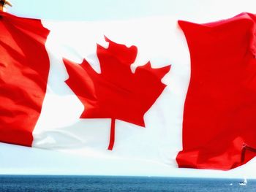
<path fill-rule="evenodd" d="M 0 191 L 256 191 L 256 180 L 0 175 Z"/>

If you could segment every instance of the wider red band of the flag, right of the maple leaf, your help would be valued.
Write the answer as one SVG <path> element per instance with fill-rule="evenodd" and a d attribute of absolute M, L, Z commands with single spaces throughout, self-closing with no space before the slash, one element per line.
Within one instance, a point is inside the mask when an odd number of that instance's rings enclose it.
<path fill-rule="evenodd" d="M 179 167 L 232 169 L 256 153 L 255 15 L 215 23 L 179 21 L 189 46 L 191 79 L 184 105 Z"/>

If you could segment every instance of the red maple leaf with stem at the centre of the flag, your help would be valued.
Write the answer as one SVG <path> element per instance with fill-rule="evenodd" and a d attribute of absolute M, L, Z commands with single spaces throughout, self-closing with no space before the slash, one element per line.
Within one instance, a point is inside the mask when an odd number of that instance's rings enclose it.
<path fill-rule="evenodd" d="M 111 118 L 108 150 L 112 150 L 115 120 L 145 127 L 143 115 L 164 90 L 166 85 L 161 79 L 170 66 L 152 69 L 148 62 L 132 73 L 130 66 L 137 56 L 137 47 L 105 40 L 109 42 L 107 49 L 97 45 L 100 74 L 85 59 L 82 64 L 75 64 L 64 58 L 64 64 L 69 74 L 67 85 L 85 107 L 80 118 Z"/>

